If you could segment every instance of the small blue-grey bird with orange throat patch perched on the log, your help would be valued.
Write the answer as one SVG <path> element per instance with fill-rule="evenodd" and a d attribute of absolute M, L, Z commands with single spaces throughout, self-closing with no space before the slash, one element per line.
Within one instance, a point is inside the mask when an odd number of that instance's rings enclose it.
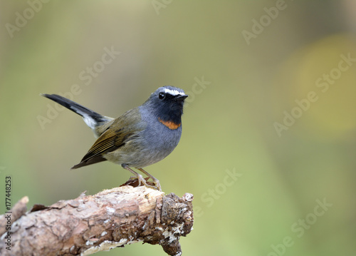
<path fill-rule="evenodd" d="M 108 160 L 133 173 L 139 184 L 161 190 L 159 180 L 142 168 L 159 162 L 172 153 L 182 135 L 182 114 L 187 95 L 181 88 L 159 87 L 141 106 L 118 118 L 102 116 L 56 94 L 41 94 L 82 116 L 98 138 L 83 159 L 72 169 Z M 147 184 L 149 176 L 155 186 Z"/>

